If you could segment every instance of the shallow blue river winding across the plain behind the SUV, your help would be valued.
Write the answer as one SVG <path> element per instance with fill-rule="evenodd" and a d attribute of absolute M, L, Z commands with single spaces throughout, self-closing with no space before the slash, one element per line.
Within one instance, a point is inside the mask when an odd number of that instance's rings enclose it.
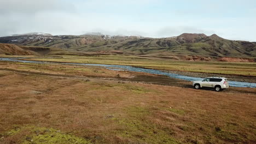
<path fill-rule="evenodd" d="M 0 58 L 0 61 L 10 61 L 10 62 L 24 62 L 24 63 L 54 63 L 54 62 L 42 62 L 42 61 L 25 61 L 22 59 L 17 58 Z M 126 65 L 110 65 L 110 64 L 87 64 L 87 63 L 63 63 L 63 64 L 75 64 L 75 65 L 95 65 L 100 67 L 105 67 L 111 70 L 127 70 L 127 71 L 136 71 L 136 72 L 143 72 L 149 74 L 158 74 L 158 75 L 166 75 L 176 79 L 187 80 L 187 81 L 200 81 L 202 78 L 200 77 L 190 77 L 172 73 L 166 73 L 161 70 L 155 69 L 144 69 L 144 68 L 136 68 Z M 256 88 L 256 83 L 249 83 L 249 82 L 238 82 L 238 81 L 229 81 L 229 86 L 232 87 L 253 87 Z"/>

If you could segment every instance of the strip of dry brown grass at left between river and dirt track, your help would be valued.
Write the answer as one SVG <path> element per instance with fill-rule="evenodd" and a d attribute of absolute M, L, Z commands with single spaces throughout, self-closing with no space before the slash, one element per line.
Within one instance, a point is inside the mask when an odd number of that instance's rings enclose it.
<path fill-rule="evenodd" d="M 62 76 L 84 76 L 84 77 L 106 77 L 115 78 L 119 74 L 121 78 L 130 78 L 134 74 L 129 71 L 114 71 L 102 67 L 86 66 L 79 67 L 77 65 L 62 65 L 62 64 L 31 64 L 31 63 L 16 63 L 16 62 L 0 62 L 2 70 L 24 71 L 34 74 L 50 74 Z"/>

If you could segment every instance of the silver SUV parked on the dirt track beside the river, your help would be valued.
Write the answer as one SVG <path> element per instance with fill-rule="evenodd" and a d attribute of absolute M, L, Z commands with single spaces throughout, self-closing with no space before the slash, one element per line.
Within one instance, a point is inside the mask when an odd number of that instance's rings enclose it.
<path fill-rule="evenodd" d="M 193 81 L 193 86 L 195 89 L 212 87 L 215 91 L 219 92 L 222 89 L 229 88 L 229 83 L 225 77 L 207 77 L 202 81 Z"/>

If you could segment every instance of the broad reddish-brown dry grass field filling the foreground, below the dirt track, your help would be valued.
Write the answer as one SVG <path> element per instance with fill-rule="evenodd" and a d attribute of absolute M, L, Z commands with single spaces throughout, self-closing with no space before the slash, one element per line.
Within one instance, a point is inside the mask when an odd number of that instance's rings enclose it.
<path fill-rule="evenodd" d="M 24 67 L 3 65 L 10 69 Z M 59 67 L 63 66 L 46 70 L 57 73 L 54 71 Z M 59 73 L 66 74 L 65 70 Z M 126 74 L 109 73 L 105 76 Z M 251 93 L 213 92 L 90 80 L 0 70 L 0 134 L 30 125 L 59 129 L 92 143 L 256 142 L 255 88 L 249 89 Z M 20 143 L 24 139 L 21 133 L 4 135 L 2 140 L 0 135 L 0 143 Z"/>

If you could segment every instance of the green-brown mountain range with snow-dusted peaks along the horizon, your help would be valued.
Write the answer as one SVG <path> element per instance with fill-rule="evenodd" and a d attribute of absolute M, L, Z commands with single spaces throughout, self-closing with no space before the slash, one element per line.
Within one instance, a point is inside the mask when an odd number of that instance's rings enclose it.
<path fill-rule="evenodd" d="M 60 48 L 69 52 L 124 53 L 136 55 L 196 55 L 203 57 L 256 57 L 256 42 L 228 40 L 216 34 L 183 33 L 177 37 L 147 38 L 139 35 L 51 35 L 27 33 L 0 37 L 0 43 Z"/>

